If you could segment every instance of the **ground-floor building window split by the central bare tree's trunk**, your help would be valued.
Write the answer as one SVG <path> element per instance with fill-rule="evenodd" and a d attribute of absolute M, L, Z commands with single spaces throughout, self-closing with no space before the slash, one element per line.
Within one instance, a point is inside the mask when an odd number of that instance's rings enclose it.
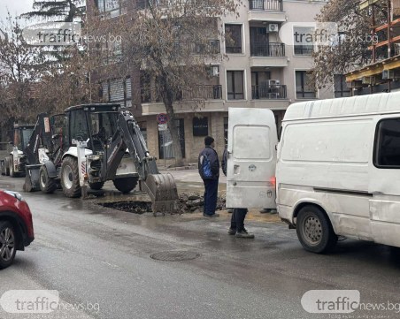
<path fill-rule="evenodd" d="M 181 142 L 182 157 L 185 157 L 185 127 L 183 118 L 176 119 L 178 126 L 179 140 Z M 167 127 L 158 130 L 158 152 L 160 159 L 174 158 L 173 137 Z"/>

